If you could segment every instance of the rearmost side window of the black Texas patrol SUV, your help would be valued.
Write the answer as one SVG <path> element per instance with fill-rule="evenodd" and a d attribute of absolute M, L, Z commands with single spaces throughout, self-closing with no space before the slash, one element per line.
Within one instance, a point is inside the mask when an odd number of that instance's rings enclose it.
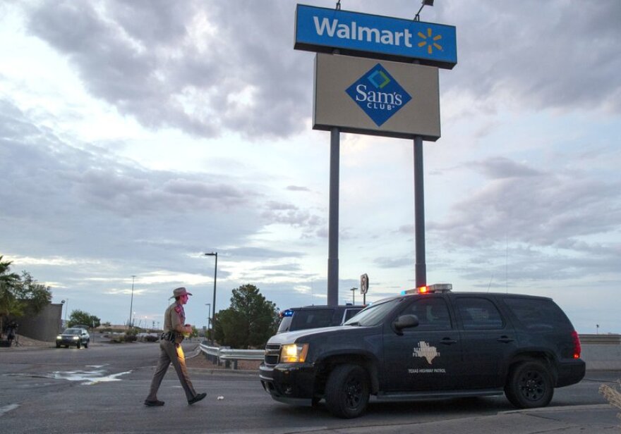
<path fill-rule="evenodd" d="M 505 304 L 526 329 L 562 330 L 569 320 L 552 300 L 505 298 Z"/>

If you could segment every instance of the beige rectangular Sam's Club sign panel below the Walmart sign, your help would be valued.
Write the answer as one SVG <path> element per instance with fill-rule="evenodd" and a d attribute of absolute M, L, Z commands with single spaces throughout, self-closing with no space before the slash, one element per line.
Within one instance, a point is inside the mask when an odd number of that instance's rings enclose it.
<path fill-rule="evenodd" d="M 315 56 L 313 129 L 440 137 L 438 68 L 372 58 Z"/>

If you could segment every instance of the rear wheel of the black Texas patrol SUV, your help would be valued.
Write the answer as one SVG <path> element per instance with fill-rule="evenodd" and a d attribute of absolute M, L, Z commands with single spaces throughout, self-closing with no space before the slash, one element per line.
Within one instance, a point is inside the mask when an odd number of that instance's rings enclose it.
<path fill-rule="evenodd" d="M 505 395 L 519 409 L 545 407 L 554 395 L 552 376 L 541 362 L 522 362 L 510 372 Z"/>

